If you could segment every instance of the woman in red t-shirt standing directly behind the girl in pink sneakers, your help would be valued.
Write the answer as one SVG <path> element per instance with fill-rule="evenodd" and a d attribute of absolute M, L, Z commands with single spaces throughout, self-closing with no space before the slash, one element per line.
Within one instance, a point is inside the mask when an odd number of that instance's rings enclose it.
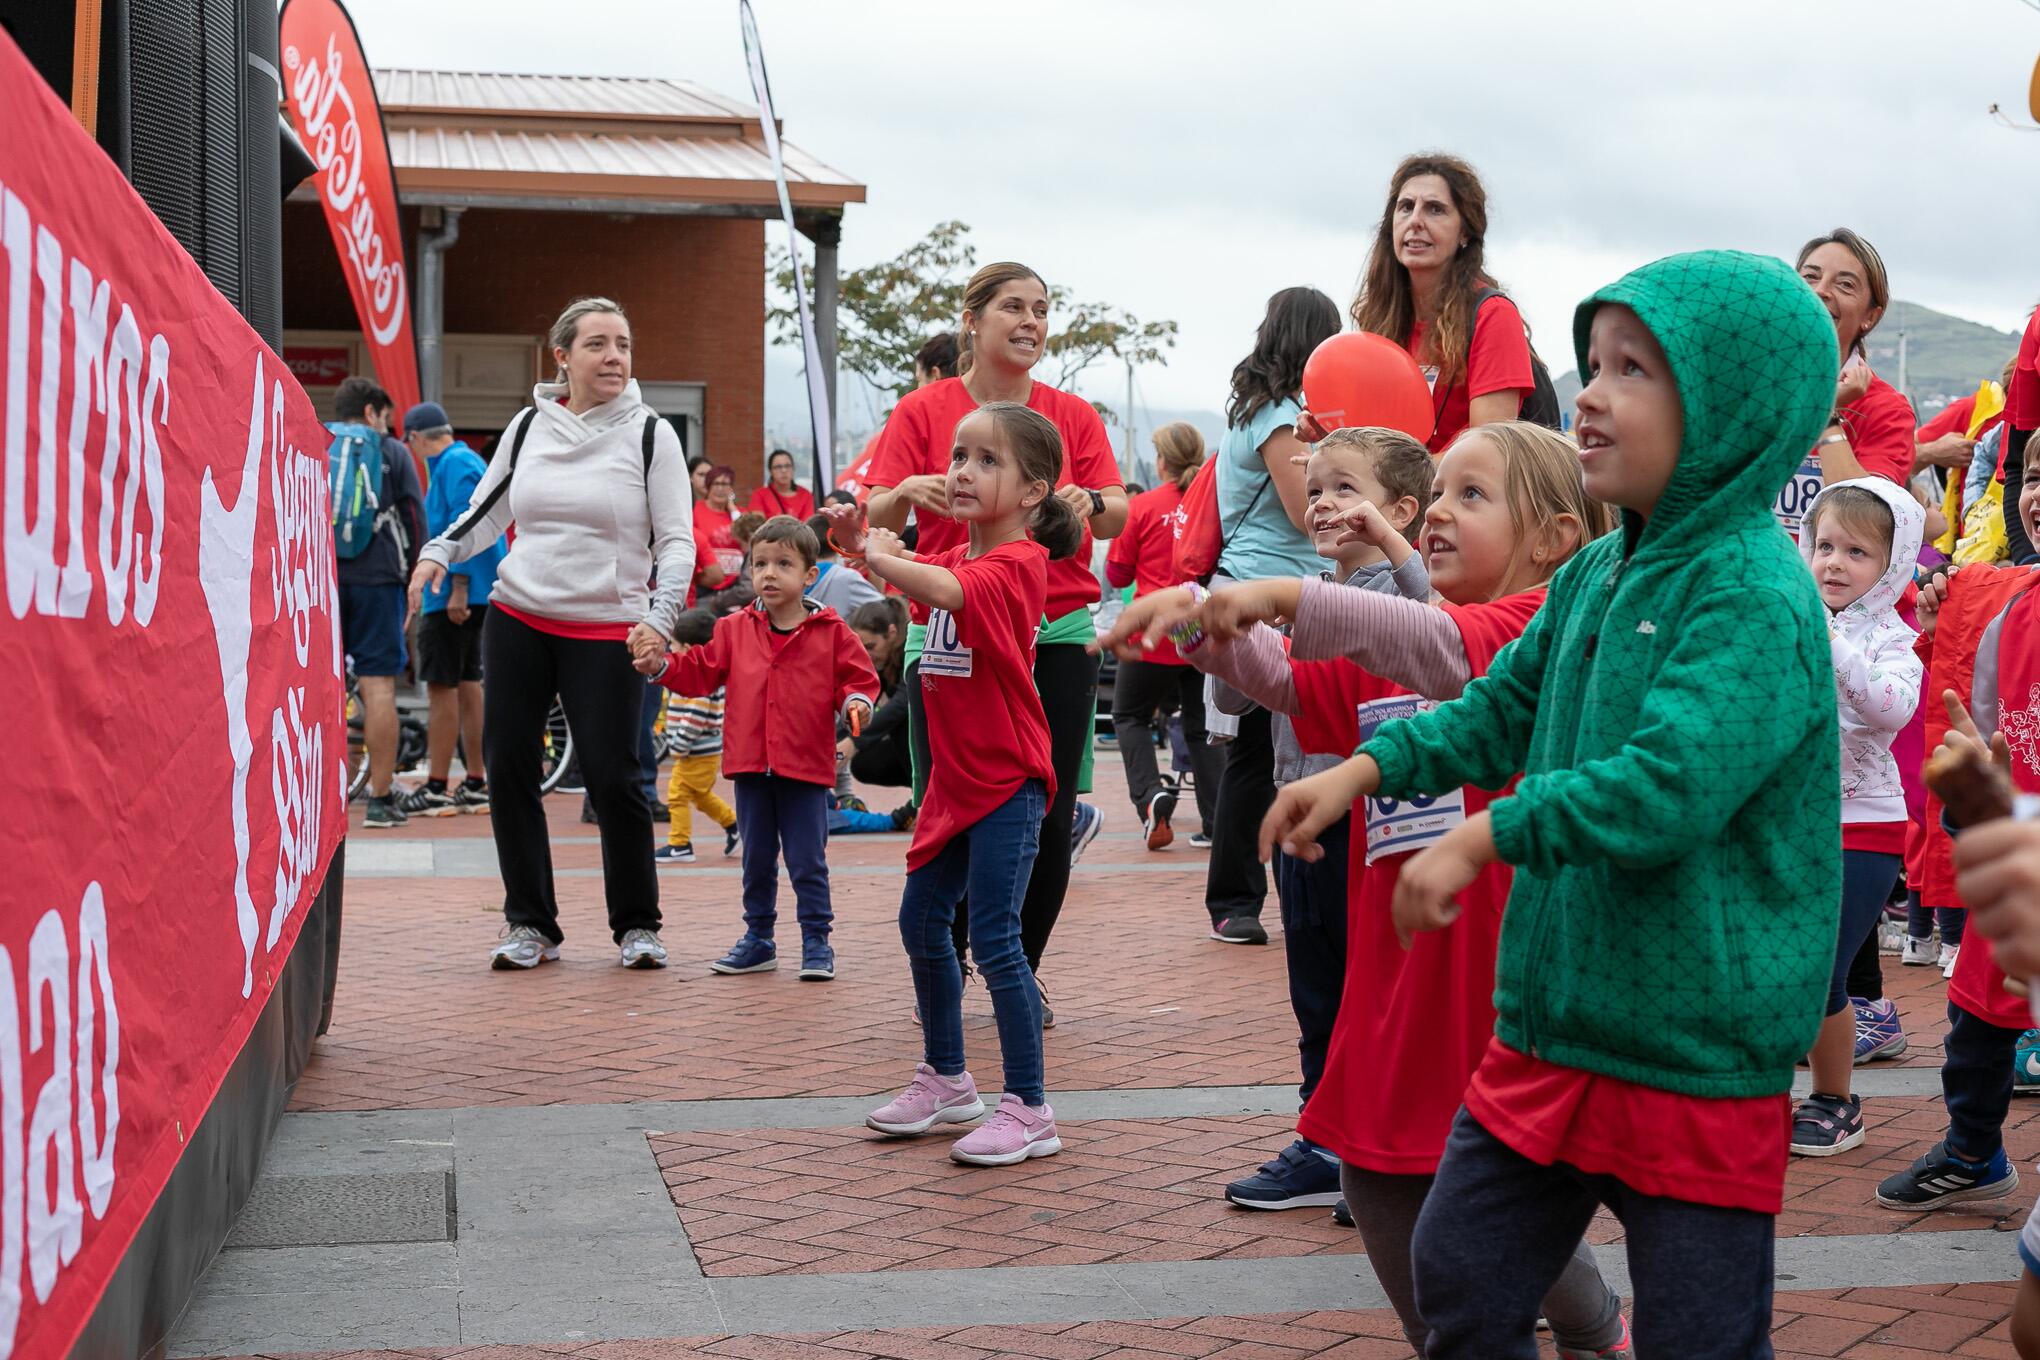
<path fill-rule="evenodd" d="M 1063 438 L 1055 493 L 1083 522 L 1083 544 L 1073 557 L 1049 565 L 1049 597 L 1034 648 L 1034 687 L 1049 716 L 1055 756 L 1055 799 L 1042 818 L 1040 854 L 1020 909 L 1020 942 L 1038 973 L 1040 952 L 1069 891 L 1077 775 L 1098 714 L 1098 657 L 1085 650 L 1095 636 L 1091 606 L 1100 595 L 1089 569 L 1091 536 L 1112 538 L 1126 526 L 1126 487 L 1120 485 L 1106 424 L 1091 404 L 1030 375 L 1049 345 L 1049 285 L 1038 273 L 1010 261 L 973 273 L 963 287 L 957 345 L 957 377 L 906 394 L 885 418 L 865 508 L 873 526 L 894 532 L 906 528 L 912 514 L 920 534 L 914 551 L 924 557 L 947 553 L 965 540 L 963 524 L 949 514 L 945 489 L 957 424 L 965 416 L 987 402 L 1018 402 L 1047 416 Z M 912 675 L 918 675 L 926 638 L 928 610 L 916 604 L 906 650 Z M 910 693 L 918 697 L 920 685 Z M 920 703 L 910 724 L 918 789 L 928 775 Z"/>

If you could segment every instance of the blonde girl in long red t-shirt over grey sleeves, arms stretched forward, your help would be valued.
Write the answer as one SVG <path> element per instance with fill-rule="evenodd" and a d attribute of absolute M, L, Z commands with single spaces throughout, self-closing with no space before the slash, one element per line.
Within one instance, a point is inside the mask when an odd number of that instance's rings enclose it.
<path fill-rule="evenodd" d="M 1128 638 L 1191 636 L 1183 659 L 1289 714 L 1306 752 L 1350 754 L 1381 722 L 1455 699 L 1485 675 L 1544 601 L 1544 583 L 1608 528 L 1610 514 L 1587 500 L 1569 440 L 1497 422 L 1465 432 L 1438 463 L 1422 546 L 1440 608 L 1328 581 L 1228 585 L 1202 606 L 1189 587 L 1175 587 L 1128 606 L 1108 644 L 1140 655 Z M 1269 628 L 1277 618 L 1293 620 L 1287 655 Z M 1410 1238 L 1493 1034 L 1510 869 L 1489 865 L 1461 897 L 1469 930 L 1457 940 L 1446 936 L 1459 932 L 1418 936 L 1404 950 L 1389 901 L 1401 867 L 1491 797 L 1467 787 L 1422 803 L 1353 801 L 1353 828 L 1357 836 L 1365 828 L 1367 848 L 1346 869 L 1346 985 L 1324 1079 L 1297 1121 L 1304 1138 L 1338 1154 L 1367 1260 L 1418 1354 L 1428 1329 L 1416 1307 Z M 1544 1315 L 1561 1354 L 1605 1354 L 1626 1336 L 1620 1301 L 1585 1246 L 1544 1299 Z"/>

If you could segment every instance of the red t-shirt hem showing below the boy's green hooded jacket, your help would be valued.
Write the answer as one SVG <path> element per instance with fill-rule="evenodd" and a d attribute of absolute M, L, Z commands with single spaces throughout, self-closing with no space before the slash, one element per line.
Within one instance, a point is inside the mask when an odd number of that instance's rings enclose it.
<path fill-rule="evenodd" d="M 1544 1062 L 1491 1040 L 1467 1087 L 1467 1113 L 1538 1166 L 1567 1162 L 1691 1205 L 1752 1213 L 1785 1207 L 1789 1095 L 1679 1095 Z M 1650 1136 L 1638 1138 L 1638 1130 Z"/>

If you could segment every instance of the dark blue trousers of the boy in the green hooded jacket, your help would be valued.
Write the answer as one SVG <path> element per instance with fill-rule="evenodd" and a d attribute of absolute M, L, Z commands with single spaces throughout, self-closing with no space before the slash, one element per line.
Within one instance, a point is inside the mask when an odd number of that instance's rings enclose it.
<path fill-rule="evenodd" d="M 1565 1162 L 1540 1166 L 1465 1109 L 1416 1221 L 1416 1305 L 1430 1323 L 1424 1354 L 1534 1360 L 1538 1305 L 1599 1205 L 1628 1234 L 1638 1356 L 1769 1360 L 1769 1213 L 1640 1195 Z"/>

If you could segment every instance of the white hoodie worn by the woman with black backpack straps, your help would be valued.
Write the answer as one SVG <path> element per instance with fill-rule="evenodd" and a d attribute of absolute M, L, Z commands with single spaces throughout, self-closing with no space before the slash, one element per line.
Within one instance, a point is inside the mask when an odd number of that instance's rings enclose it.
<path fill-rule="evenodd" d="M 424 544 L 441 567 L 463 563 L 516 522 L 516 540 L 496 569 L 492 599 L 573 624 L 645 622 L 673 636 L 694 577 L 694 498 L 673 426 L 653 432 L 645 467 L 645 406 L 639 385 L 575 416 L 565 383 L 532 387 L 530 432 L 510 477 L 518 412 L 496 447 L 467 512 Z M 508 495 L 504 479 L 510 479 Z M 653 565 L 659 589 L 649 589 Z"/>

